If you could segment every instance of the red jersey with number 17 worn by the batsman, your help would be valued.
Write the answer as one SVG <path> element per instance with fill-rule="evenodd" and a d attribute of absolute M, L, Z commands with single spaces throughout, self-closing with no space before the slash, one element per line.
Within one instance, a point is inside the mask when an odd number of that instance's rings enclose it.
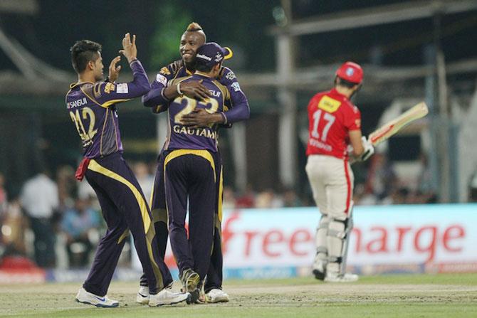
<path fill-rule="evenodd" d="M 308 147 L 306 155 L 347 157 L 348 132 L 361 129 L 361 113 L 334 88 L 318 92 L 308 103 Z"/>

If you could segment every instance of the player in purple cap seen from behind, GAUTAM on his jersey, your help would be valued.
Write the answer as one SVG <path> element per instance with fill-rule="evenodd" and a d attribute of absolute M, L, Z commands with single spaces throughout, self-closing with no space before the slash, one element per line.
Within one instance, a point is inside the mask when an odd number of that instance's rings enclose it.
<path fill-rule="evenodd" d="M 238 94 L 233 86 L 215 78 L 230 51 L 217 43 L 205 43 L 196 51 L 196 71 L 167 85 L 177 87 L 190 80 L 200 81 L 211 93 L 206 100 L 180 95 L 165 105 L 169 110 L 169 139 L 164 146 L 164 190 L 169 235 L 184 290 L 199 298 L 199 282 L 204 281 L 213 247 L 216 211 L 216 179 L 220 177 L 217 156 L 217 125 L 190 128 L 182 118 L 194 110 L 224 116 L 226 102 Z M 225 117 L 223 117 L 225 120 Z M 185 228 L 189 203 L 189 235 Z"/>

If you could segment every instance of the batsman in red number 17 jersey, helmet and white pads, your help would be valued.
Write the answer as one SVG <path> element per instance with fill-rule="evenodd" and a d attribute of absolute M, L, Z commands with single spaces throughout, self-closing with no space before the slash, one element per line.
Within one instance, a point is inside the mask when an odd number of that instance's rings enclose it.
<path fill-rule="evenodd" d="M 358 279 L 345 272 L 354 181 L 349 157 L 364 161 L 374 153 L 372 144 L 362 137 L 360 110 L 350 101 L 362 79 L 361 66 L 346 62 L 336 71 L 335 88 L 318 92 L 308 104 L 306 173 L 322 214 L 316 232 L 313 274 L 326 282 Z"/>

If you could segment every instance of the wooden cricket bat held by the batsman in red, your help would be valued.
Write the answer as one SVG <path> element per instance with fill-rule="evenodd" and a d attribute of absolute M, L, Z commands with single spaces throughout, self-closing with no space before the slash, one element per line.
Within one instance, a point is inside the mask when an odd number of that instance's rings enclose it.
<path fill-rule="evenodd" d="M 373 146 L 376 146 L 399 132 L 399 130 L 406 127 L 411 122 L 414 122 L 414 120 L 419 120 L 419 118 L 426 116 L 428 112 L 429 109 L 427 108 L 426 103 L 419 102 L 419 104 L 407 110 L 399 117 L 394 118 L 394 120 L 391 120 L 374 130 L 374 132 L 369 134 L 367 139 Z"/>

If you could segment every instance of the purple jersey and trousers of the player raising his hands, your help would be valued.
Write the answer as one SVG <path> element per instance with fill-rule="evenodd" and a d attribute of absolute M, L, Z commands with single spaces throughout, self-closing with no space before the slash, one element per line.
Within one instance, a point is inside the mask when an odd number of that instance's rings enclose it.
<path fill-rule="evenodd" d="M 116 104 L 140 97 L 150 90 L 139 60 L 130 63 L 130 83 L 73 83 L 66 95 L 66 107 L 83 142 L 87 158 L 85 177 L 100 201 L 108 225 L 96 250 L 83 287 L 95 295 L 106 295 L 125 238 L 132 233 L 137 255 L 156 294 L 172 282 L 169 269 L 151 244 L 155 230 L 144 194 L 126 161 L 117 122 Z M 89 162 L 88 162 L 89 159 Z"/>

